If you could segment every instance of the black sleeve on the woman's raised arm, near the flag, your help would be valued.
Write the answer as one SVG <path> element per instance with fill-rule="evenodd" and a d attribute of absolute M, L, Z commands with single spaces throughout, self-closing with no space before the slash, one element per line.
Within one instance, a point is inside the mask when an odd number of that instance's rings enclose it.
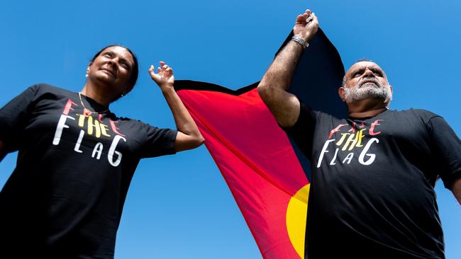
<path fill-rule="evenodd" d="M 145 124 L 147 139 L 141 149 L 141 157 L 155 157 L 175 154 L 174 142 L 177 131 L 173 129 L 160 129 Z"/>

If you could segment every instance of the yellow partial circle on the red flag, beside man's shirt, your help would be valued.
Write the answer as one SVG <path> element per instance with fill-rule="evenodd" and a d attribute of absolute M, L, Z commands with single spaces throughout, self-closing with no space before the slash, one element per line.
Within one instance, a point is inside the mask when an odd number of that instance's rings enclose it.
<path fill-rule="evenodd" d="M 304 185 L 291 197 L 287 207 L 287 231 L 291 244 L 299 257 L 304 259 L 306 238 L 307 200 L 310 184 Z"/>

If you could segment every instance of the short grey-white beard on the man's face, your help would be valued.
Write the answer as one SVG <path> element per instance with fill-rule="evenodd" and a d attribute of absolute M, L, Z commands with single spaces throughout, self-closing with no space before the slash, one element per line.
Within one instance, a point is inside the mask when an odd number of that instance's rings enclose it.
<path fill-rule="evenodd" d="M 381 99 L 384 103 L 390 103 L 392 100 L 391 86 L 389 84 L 382 86 L 378 81 L 373 83 L 357 84 L 344 88 L 344 96 L 346 103 L 352 103 L 356 100 L 367 98 Z"/>

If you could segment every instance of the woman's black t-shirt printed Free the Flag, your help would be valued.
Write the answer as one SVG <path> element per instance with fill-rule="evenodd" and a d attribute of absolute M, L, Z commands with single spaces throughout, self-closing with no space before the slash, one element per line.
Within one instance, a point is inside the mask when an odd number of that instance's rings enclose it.
<path fill-rule="evenodd" d="M 176 134 L 110 112 L 88 115 L 78 93 L 28 88 L 0 110 L 0 139 L 19 151 L 0 192 L 0 257 L 113 258 L 138 162 L 174 154 Z"/>

